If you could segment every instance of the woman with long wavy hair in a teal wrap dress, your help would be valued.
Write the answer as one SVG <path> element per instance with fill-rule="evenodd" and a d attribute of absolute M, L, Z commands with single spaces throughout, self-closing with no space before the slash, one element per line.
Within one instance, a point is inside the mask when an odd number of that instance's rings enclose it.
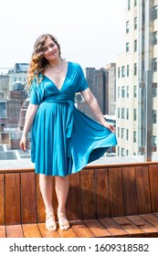
<path fill-rule="evenodd" d="M 68 175 L 80 171 L 117 144 L 114 127 L 104 120 L 79 64 L 61 58 L 55 37 L 46 34 L 37 38 L 27 81 L 30 103 L 20 147 L 26 151 L 26 137 L 32 126 L 31 160 L 39 174 L 46 229 L 57 229 L 52 206 L 52 176 L 55 176 L 58 225 L 67 230 Z M 100 123 L 75 108 L 76 92 L 81 92 Z"/>

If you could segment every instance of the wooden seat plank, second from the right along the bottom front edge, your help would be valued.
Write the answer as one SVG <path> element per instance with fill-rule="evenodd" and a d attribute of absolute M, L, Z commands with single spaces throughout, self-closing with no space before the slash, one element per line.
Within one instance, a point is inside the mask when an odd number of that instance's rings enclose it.
<path fill-rule="evenodd" d="M 127 219 L 126 217 L 115 217 L 113 219 L 121 226 L 122 229 L 126 230 L 131 238 L 144 237 L 144 232 L 142 229 L 139 229 L 137 226 L 135 226 L 132 221 L 130 221 L 130 219 Z"/>

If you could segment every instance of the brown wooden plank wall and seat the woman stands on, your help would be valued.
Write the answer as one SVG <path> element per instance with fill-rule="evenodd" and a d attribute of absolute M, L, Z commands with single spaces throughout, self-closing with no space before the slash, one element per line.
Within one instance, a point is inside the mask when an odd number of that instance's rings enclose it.
<path fill-rule="evenodd" d="M 1 238 L 158 237 L 158 162 L 93 163 L 69 176 L 71 228 L 55 232 L 45 229 L 34 167 L 4 166 L 0 170 Z M 53 202 L 57 209 L 55 194 Z"/>

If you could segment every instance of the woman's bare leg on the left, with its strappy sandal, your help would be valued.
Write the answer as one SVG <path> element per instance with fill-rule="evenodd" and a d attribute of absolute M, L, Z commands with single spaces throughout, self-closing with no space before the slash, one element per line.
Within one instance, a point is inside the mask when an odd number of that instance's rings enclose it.
<path fill-rule="evenodd" d="M 46 228 L 49 231 L 55 231 L 57 224 L 52 206 L 52 176 L 39 175 L 39 187 L 46 207 Z"/>

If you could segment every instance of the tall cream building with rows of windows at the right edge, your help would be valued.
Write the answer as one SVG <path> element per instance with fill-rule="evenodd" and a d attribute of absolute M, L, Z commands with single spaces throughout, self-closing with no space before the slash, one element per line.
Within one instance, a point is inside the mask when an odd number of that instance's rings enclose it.
<path fill-rule="evenodd" d="M 117 56 L 117 155 L 151 157 L 158 144 L 157 0 L 126 0 L 125 51 Z"/>

